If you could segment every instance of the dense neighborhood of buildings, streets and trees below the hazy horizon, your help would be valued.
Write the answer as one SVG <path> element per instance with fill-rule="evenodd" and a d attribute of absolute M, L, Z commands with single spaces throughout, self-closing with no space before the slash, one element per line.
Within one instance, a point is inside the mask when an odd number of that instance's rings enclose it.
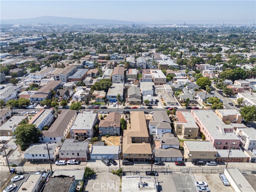
<path fill-rule="evenodd" d="M 255 26 L 1 30 L 1 188 L 256 190 Z"/>

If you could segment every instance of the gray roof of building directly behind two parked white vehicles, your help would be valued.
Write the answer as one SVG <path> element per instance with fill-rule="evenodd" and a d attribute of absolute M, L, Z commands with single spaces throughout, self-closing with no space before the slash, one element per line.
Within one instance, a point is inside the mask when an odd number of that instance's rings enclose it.
<path fill-rule="evenodd" d="M 59 151 L 78 151 L 78 150 L 87 150 L 88 141 L 74 141 L 74 139 L 65 139 L 60 146 Z"/>

